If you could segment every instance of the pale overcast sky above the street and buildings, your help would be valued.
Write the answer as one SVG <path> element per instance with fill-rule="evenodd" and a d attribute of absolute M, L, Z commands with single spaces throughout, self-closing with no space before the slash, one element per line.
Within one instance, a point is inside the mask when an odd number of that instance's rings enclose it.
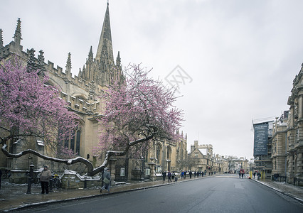
<path fill-rule="evenodd" d="M 70 52 L 78 75 L 90 45 L 95 56 L 106 6 L 106 0 L 1 0 L 4 45 L 21 18 L 23 50 L 43 50 L 46 62 L 63 68 Z M 188 151 L 198 140 L 216 154 L 250 159 L 252 119 L 289 109 L 303 62 L 302 9 L 301 0 L 111 0 L 114 57 L 120 51 L 123 66 L 142 63 L 166 84 L 180 81 L 176 105 L 184 109 Z"/>

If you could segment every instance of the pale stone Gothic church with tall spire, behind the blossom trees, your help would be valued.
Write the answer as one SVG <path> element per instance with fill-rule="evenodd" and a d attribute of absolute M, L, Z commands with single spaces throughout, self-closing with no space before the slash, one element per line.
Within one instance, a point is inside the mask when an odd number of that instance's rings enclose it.
<path fill-rule="evenodd" d="M 95 165 L 100 164 L 98 156 L 92 153 L 92 148 L 97 146 L 98 141 L 98 121 L 97 118 L 102 116 L 104 109 L 103 94 L 106 94 L 110 84 L 116 80 L 124 80 L 122 72 L 121 58 L 119 52 L 114 58 L 112 49 L 112 35 L 110 28 L 110 11 L 109 4 L 105 11 L 105 18 L 102 26 L 97 52 L 93 53 L 92 46 L 87 54 L 87 59 L 83 68 L 79 70 L 78 75 L 72 76 L 71 73 L 71 54 L 67 55 L 65 69 L 62 67 L 54 67 L 53 62 L 46 62 L 43 56 L 43 50 L 39 51 L 37 58 L 35 50 L 23 50 L 21 45 L 21 19 L 18 18 L 14 40 L 8 45 L 4 45 L 2 38 L 2 30 L 0 29 L 0 58 L 6 59 L 11 55 L 19 55 L 25 64 L 33 64 L 44 72 L 48 73 L 48 84 L 52 84 L 60 89 L 60 97 L 65 99 L 69 104 L 69 109 L 80 116 L 80 125 L 75 132 L 75 137 L 64 141 L 63 146 L 70 148 L 83 158 L 87 158 Z M 26 38 L 25 38 L 26 39 Z M 9 151 L 18 152 L 23 148 L 23 144 L 19 141 L 11 141 Z M 45 155 L 53 155 L 49 153 L 43 146 L 42 141 L 34 140 L 36 150 L 41 151 Z M 180 141 L 165 141 L 162 143 L 154 143 L 150 150 L 147 151 L 145 159 L 139 160 L 124 158 L 120 160 L 124 163 L 117 163 L 117 179 L 136 179 L 138 177 L 150 178 L 149 163 L 151 163 L 151 171 L 157 172 L 161 170 L 179 170 L 181 160 L 187 157 L 186 136 L 181 137 Z M 20 150 L 21 151 L 21 150 Z M 23 156 L 23 159 L 6 158 L 0 153 L 0 168 L 9 168 L 11 170 L 27 170 L 29 163 L 33 163 L 36 168 L 41 168 L 45 163 L 44 160 L 35 156 Z M 137 162 L 137 163 L 136 163 Z M 55 170 L 55 165 L 49 163 L 50 168 Z M 126 168 L 127 175 L 122 175 Z M 129 169 L 127 169 L 129 168 Z M 57 170 L 60 170 L 57 168 Z M 139 170 L 139 173 L 136 172 Z M 120 172 L 122 171 L 122 172 Z M 146 174 L 146 175 L 145 175 Z"/>

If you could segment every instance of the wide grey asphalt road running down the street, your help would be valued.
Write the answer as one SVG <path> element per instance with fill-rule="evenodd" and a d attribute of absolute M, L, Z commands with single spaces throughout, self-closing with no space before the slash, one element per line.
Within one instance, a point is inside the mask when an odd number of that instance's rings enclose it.
<path fill-rule="evenodd" d="M 20 212 L 303 212 L 303 204 L 238 175 L 178 182 Z"/>

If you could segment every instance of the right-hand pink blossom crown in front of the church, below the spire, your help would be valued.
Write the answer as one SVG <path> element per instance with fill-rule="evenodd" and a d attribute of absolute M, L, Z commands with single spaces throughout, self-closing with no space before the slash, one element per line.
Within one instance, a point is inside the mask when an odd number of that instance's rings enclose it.
<path fill-rule="evenodd" d="M 110 87 L 100 118 L 100 143 L 95 151 L 107 152 L 98 171 L 112 155 L 140 153 L 151 140 L 176 140 L 183 121 L 183 112 L 174 106 L 174 91 L 149 77 L 150 71 L 140 65 L 125 72 L 126 82 Z"/>

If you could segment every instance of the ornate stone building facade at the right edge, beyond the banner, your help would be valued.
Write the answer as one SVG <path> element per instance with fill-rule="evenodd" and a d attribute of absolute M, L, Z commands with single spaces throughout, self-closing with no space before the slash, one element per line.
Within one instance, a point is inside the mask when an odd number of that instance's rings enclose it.
<path fill-rule="evenodd" d="M 294 78 L 287 104 L 289 111 L 284 111 L 273 123 L 269 140 L 272 170 L 266 178 L 279 174 L 286 182 L 303 185 L 303 64 Z"/>

